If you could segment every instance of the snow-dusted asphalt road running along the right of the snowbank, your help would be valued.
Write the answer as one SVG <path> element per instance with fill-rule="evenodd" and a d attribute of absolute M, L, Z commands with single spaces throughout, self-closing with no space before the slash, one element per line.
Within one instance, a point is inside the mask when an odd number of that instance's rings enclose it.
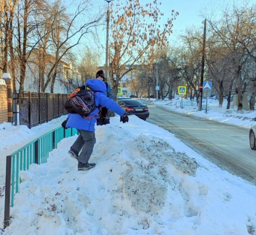
<path fill-rule="evenodd" d="M 250 149 L 248 128 L 147 104 L 150 111 L 147 121 L 174 133 L 186 145 L 220 168 L 256 185 L 256 151 Z"/>

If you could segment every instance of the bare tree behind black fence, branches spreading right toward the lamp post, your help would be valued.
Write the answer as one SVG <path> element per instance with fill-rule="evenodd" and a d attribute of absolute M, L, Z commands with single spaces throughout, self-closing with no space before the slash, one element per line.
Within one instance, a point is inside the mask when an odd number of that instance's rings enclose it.
<path fill-rule="evenodd" d="M 47 73 L 46 81 L 42 86 L 43 92 L 51 81 L 51 92 L 53 91 L 57 68 L 61 59 L 67 52 L 79 44 L 85 34 L 93 33 L 93 29 L 101 24 L 103 14 L 98 13 L 92 16 L 92 19 L 86 17 L 86 13 L 89 14 L 90 9 L 90 0 L 81 1 L 74 13 L 68 13 L 68 7 L 64 6 L 60 0 L 55 2 L 51 30 L 51 51 L 54 55 L 54 61 Z M 64 14 L 68 17 L 63 17 Z"/>

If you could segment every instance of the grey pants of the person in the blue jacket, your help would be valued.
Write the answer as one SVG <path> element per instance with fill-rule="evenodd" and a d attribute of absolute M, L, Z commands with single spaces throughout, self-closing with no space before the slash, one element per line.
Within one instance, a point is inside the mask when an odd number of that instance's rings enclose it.
<path fill-rule="evenodd" d="M 87 163 L 91 157 L 93 146 L 96 142 L 95 132 L 83 129 L 78 129 L 77 131 L 80 134 L 71 147 L 78 152 L 80 152 L 82 149 L 82 151 L 79 154 L 78 161 L 82 163 Z"/>

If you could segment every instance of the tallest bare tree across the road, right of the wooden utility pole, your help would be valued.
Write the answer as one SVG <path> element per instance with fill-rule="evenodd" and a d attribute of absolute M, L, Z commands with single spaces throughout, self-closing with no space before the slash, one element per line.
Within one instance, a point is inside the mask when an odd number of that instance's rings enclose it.
<path fill-rule="evenodd" d="M 244 84 L 247 83 L 247 77 L 244 76 L 248 59 L 246 52 L 251 44 L 248 36 L 255 34 L 255 12 L 255 4 L 244 1 L 241 5 L 227 5 L 222 9 L 220 20 L 208 18 L 210 27 L 229 51 L 235 90 L 238 94 L 238 111 L 242 110 Z"/>

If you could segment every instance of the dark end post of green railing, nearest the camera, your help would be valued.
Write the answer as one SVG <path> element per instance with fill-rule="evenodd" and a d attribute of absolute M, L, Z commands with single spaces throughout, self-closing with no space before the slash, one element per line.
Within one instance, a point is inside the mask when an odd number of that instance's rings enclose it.
<path fill-rule="evenodd" d="M 6 157 L 6 195 L 5 195 L 4 228 L 10 225 L 11 176 L 12 176 L 12 156 L 7 156 Z"/>

